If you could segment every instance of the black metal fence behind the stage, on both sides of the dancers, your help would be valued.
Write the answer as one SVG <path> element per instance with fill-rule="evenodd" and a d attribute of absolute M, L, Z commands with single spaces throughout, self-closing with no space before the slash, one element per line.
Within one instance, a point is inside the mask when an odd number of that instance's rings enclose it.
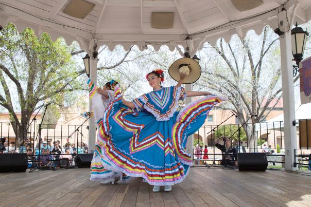
<path fill-rule="evenodd" d="M 300 162 L 297 161 L 294 164 L 308 165 L 306 161 L 311 153 L 311 119 L 297 120 L 296 123 L 299 149 L 295 149 L 295 157 Z M 223 144 L 218 138 L 226 136 L 230 138 L 231 146 L 236 148 L 237 153 L 265 152 L 269 162 L 284 163 L 284 139 L 286 136 L 284 135 L 283 121 L 255 124 L 251 133 L 251 137 L 255 141 L 251 146 L 249 146 L 250 142 L 246 136 L 249 134 L 247 130 L 251 128 L 250 124 L 248 126 L 246 131 L 240 124 L 202 126 L 194 134 L 194 162 L 221 162 L 222 153 L 215 144 Z M 32 165 L 39 162 L 40 156 L 46 156 L 46 154 L 42 155 L 43 148 L 48 148 L 49 156 L 53 158 L 50 160 L 50 164 L 59 163 L 59 160 L 65 159 L 65 157 L 71 164 L 74 164 L 77 154 L 89 151 L 87 125 L 42 124 L 42 129 L 39 130 L 39 124 L 30 124 L 22 127 L 25 128 L 25 131 L 19 137 L 15 135 L 15 131 L 18 131 L 16 125 L 0 122 L 0 127 L 0 137 L 2 138 L 0 153 L 27 153 Z M 16 127 L 15 130 L 13 127 Z M 69 153 L 66 152 L 68 150 Z M 304 154 L 299 154 L 298 150 L 304 150 Z M 32 156 L 31 159 L 30 156 Z"/>

